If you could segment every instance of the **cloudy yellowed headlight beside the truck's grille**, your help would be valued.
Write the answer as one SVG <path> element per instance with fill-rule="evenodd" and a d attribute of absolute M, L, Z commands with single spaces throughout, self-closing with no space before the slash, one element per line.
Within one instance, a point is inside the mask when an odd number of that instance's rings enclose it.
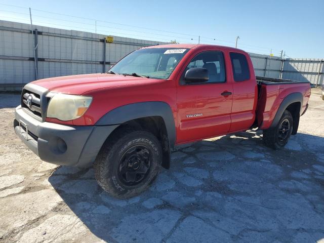
<path fill-rule="evenodd" d="M 55 94 L 47 108 L 47 117 L 73 120 L 82 116 L 90 106 L 92 97 L 82 95 Z"/>

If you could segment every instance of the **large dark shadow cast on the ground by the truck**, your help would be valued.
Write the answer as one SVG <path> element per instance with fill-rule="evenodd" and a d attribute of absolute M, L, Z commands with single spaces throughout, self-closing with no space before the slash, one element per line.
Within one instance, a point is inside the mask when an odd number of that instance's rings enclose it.
<path fill-rule="evenodd" d="M 248 131 L 178 147 L 170 170 L 128 200 L 93 168 L 60 167 L 49 182 L 109 242 L 316 241 L 324 238 L 324 138 L 293 136 L 274 151 Z"/>

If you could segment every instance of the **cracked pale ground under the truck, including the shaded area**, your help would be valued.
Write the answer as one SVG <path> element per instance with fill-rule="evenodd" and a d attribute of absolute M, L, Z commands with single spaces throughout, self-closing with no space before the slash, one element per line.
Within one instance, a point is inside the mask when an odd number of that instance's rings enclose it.
<path fill-rule="evenodd" d="M 312 90 L 285 149 L 247 131 L 178 147 L 170 170 L 129 200 L 92 168 L 44 163 L 13 131 L 0 94 L 1 242 L 324 242 L 324 101 Z"/>

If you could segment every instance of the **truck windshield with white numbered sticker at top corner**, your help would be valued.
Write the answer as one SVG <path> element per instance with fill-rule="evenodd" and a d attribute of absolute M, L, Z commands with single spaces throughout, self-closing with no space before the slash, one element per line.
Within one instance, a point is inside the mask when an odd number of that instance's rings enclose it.
<path fill-rule="evenodd" d="M 188 49 L 147 48 L 127 55 L 108 72 L 167 79 Z"/>

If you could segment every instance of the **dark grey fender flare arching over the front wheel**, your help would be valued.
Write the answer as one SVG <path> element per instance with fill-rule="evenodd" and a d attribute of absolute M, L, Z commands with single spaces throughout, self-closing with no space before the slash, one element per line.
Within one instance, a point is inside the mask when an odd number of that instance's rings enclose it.
<path fill-rule="evenodd" d="M 163 118 L 168 133 L 169 144 L 173 147 L 176 142 L 174 116 L 170 105 L 163 101 L 147 101 L 119 106 L 104 114 L 95 125 L 119 125 L 129 120 L 149 116 L 160 116 Z"/>

